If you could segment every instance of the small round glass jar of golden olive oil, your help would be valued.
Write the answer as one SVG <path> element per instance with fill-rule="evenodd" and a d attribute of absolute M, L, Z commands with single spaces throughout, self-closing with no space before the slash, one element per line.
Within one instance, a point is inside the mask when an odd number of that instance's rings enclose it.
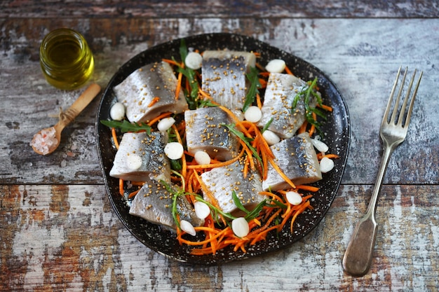
<path fill-rule="evenodd" d="M 67 28 L 55 29 L 44 37 L 40 64 L 48 83 L 63 90 L 73 90 L 86 83 L 95 67 L 86 39 Z"/>

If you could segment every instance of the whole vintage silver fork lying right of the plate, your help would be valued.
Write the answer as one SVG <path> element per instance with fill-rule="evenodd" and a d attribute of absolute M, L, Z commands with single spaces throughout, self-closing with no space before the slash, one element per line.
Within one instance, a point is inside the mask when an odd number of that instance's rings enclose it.
<path fill-rule="evenodd" d="M 417 70 L 414 70 L 414 74 L 410 81 L 409 87 L 407 88 L 407 94 L 405 95 L 403 105 L 401 106 L 401 109 L 398 110 L 400 97 L 402 95 L 405 83 L 405 76 L 407 76 L 407 67 L 405 68 L 403 82 L 402 85 L 400 85 L 393 111 L 391 111 L 391 107 L 393 104 L 393 95 L 395 94 L 396 86 L 398 85 L 400 72 L 401 67 L 398 69 L 395 83 L 393 83 L 389 102 L 387 103 L 386 111 L 384 113 L 383 120 L 381 121 L 381 127 L 379 129 L 379 135 L 381 137 L 381 141 L 383 142 L 384 153 L 381 157 L 381 165 L 379 167 L 377 181 L 375 182 L 374 190 L 372 191 L 372 197 L 370 199 L 369 206 L 367 207 L 367 211 L 365 215 L 360 219 L 360 221 L 358 221 L 358 223 L 356 224 L 356 227 L 353 230 L 351 241 L 349 242 L 346 252 L 344 253 L 344 270 L 353 276 L 363 276 L 364 274 L 366 274 L 370 268 L 370 264 L 372 263 L 372 254 L 374 250 L 375 239 L 377 237 L 377 222 L 375 221 L 377 198 L 381 190 L 381 184 L 384 174 L 386 173 L 389 158 L 395 148 L 399 144 L 401 144 L 407 136 L 407 129 L 410 122 L 410 116 L 412 115 L 414 99 L 417 95 L 419 83 L 421 82 L 421 77 L 423 74 L 423 72 L 421 72 L 419 76 L 406 113 L 407 102 L 410 97 L 410 92 L 412 91 L 414 76 L 416 75 Z M 397 117 L 398 111 L 399 116 Z M 398 120 L 396 120 L 396 118 L 398 118 Z"/>

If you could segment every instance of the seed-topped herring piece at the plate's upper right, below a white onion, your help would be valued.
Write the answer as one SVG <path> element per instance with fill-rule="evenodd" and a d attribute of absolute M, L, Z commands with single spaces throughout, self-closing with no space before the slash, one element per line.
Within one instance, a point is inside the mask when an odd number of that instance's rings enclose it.
<path fill-rule="evenodd" d="M 258 126 L 264 127 L 273 119 L 269 130 L 285 139 L 292 137 L 305 121 L 304 100 L 299 99 L 292 110 L 292 102 L 298 92 L 308 86 L 302 79 L 291 74 L 271 73 L 266 84 L 262 118 Z M 315 106 L 313 99 L 310 106 Z"/>

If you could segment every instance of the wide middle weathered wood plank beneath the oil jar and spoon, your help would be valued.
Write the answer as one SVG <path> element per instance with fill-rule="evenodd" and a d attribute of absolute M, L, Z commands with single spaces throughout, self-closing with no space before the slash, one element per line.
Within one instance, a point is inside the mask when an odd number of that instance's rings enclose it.
<path fill-rule="evenodd" d="M 50 29 L 82 32 L 95 52 L 93 81 L 104 88 L 116 70 L 157 43 L 191 34 L 235 32 L 254 36 L 322 69 L 339 87 L 351 115 L 351 151 L 343 183 L 373 183 L 381 146 L 379 123 L 402 64 L 424 70 L 407 141 L 391 159 L 386 183 L 438 183 L 438 20 L 387 19 L 140 19 L 5 20 L 1 23 L 0 183 L 102 183 L 94 124 L 97 100 L 63 132 L 48 157 L 28 145 L 40 127 L 56 123 L 59 108 L 81 90 L 65 92 L 44 81 L 38 46 Z M 140 29 L 139 29 L 140 27 Z M 377 34 L 377 27 L 380 34 Z M 401 39 L 400 36 L 405 36 Z M 4 40 L 4 41 L 3 41 Z M 410 153 L 410 156 L 407 156 Z"/>

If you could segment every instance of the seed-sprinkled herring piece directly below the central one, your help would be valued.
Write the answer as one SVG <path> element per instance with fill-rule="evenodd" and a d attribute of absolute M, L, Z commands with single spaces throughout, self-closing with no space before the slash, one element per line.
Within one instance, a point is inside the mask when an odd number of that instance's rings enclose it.
<path fill-rule="evenodd" d="M 201 174 L 201 179 L 210 194 L 217 200 L 222 211 L 230 212 L 235 216 L 241 215 L 241 211 L 234 203 L 233 191 L 245 209 L 249 211 L 266 198 L 264 195 L 259 195 L 259 192 L 262 191 L 262 179 L 259 173 L 250 170 L 247 177 L 244 177 L 243 165 L 242 162 L 238 161 L 226 167 L 215 167 Z M 203 194 L 203 197 L 205 200 L 210 200 L 206 193 Z"/>

